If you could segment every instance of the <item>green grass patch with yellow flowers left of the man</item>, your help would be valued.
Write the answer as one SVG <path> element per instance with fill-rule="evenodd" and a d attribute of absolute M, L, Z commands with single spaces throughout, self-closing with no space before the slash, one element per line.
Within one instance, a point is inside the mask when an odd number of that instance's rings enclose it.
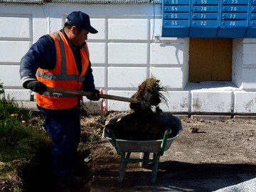
<path fill-rule="evenodd" d="M 31 112 L 21 110 L 12 100 L 0 100 L 0 161 L 29 159 L 50 139 L 38 127 L 28 124 Z M 1 176 L 1 174 L 0 174 Z"/>

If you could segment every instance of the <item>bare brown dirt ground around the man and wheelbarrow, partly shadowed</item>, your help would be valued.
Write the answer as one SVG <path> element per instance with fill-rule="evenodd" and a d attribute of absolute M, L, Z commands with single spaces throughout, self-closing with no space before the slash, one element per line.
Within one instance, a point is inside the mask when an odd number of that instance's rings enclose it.
<path fill-rule="evenodd" d="M 105 124 L 116 114 L 105 116 Z M 178 117 L 178 116 L 176 116 Z M 183 131 L 178 135 L 160 163 L 156 181 L 151 183 L 152 164 L 127 164 L 122 181 L 118 181 L 120 156 L 102 137 L 104 125 L 100 114 L 81 117 L 82 142 L 94 144 L 80 151 L 75 174 L 84 186 L 73 191 L 216 191 L 219 188 L 256 178 L 256 120 L 206 120 L 180 118 Z M 128 133 L 127 133 L 128 134 Z M 98 137 L 102 137 L 96 142 Z M 132 153 L 132 158 L 139 158 Z M 50 149 L 39 151 L 31 165 L 19 168 L 24 191 L 48 191 Z M 0 191 L 9 191 L 11 181 L 0 180 Z"/>

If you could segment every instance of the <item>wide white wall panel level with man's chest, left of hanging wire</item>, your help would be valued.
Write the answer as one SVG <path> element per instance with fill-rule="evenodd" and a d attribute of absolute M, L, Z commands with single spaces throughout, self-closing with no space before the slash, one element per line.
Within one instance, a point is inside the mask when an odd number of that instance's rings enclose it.
<path fill-rule="evenodd" d="M 109 43 L 109 64 L 146 64 L 146 43 Z"/>

